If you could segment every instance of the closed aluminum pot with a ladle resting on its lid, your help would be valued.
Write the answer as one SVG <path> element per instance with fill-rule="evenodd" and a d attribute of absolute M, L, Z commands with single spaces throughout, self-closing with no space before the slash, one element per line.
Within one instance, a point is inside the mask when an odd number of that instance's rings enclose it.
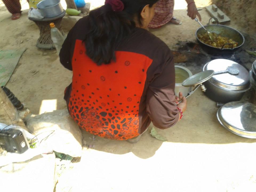
<path fill-rule="evenodd" d="M 216 102 L 228 103 L 239 101 L 246 91 L 251 88 L 249 72 L 245 67 L 228 59 L 215 59 L 206 63 L 205 70 L 214 70 L 215 72 L 226 70 L 227 67 L 236 67 L 239 70 L 238 75 L 229 73 L 214 75 L 204 83 L 206 87 L 206 96 Z"/>

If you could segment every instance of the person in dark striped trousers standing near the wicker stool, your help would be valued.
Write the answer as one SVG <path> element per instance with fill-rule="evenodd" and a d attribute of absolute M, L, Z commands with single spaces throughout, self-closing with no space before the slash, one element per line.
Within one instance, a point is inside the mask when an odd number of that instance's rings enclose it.
<path fill-rule="evenodd" d="M 8 11 L 12 14 L 11 19 L 16 20 L 21 17 L 21 3 L 19 0 L 2 0 Z M 29 0 L 27 0 L 29 2 Z"/>

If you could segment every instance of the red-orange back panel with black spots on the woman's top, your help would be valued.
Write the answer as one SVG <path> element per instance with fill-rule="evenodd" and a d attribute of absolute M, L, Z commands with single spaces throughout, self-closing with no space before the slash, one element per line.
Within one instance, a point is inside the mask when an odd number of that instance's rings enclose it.
<path fill-rule="evenodd" d="M 116 51 L 116 62 L 97 66 L 76 40 L 68 109 L 78 125 L 100 137 L 131 139 L 139 135 L 139 103 L 152 59 Z"/>

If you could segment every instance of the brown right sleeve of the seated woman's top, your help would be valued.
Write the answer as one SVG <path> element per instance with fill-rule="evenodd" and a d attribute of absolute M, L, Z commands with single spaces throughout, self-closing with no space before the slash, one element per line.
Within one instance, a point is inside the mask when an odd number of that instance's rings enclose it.
<path fill-rule="evenodd" d="M 179 120 L 174 87 L 174 62 L 169 58 L 162 73 L 149 85 L 146 95 L 147 113 L 154 126 L 160 129 L 169 128 Z"/>

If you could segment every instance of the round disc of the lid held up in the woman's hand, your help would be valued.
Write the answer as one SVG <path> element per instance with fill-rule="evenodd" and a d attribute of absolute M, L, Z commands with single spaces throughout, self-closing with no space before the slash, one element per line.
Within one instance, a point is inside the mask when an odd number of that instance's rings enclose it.
<path fill-rule="evenodd" d="M 212 78 L 213 75 L 214 75 L 214 70 L 202 71 L 200 73 L 197 73 L 197 74 L 187 78 L 185 81 L 183 81 L 182 86 L 184 86 L 184 87 L 197 86 L 203 82 L 206 82 L 210 78 Z"/>

